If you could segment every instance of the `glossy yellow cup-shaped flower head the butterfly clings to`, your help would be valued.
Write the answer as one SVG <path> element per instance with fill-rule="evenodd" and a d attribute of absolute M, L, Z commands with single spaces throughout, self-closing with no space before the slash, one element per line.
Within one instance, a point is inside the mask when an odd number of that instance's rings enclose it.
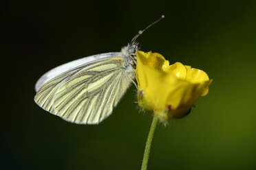
<path fill-rule="evenodd" d="M 207 95 L 208 75 L 180 62 L 169 65 L 160 53 L 137 51 L 138 104 L 164 121 L 188 114 L 195 101 Z"/>

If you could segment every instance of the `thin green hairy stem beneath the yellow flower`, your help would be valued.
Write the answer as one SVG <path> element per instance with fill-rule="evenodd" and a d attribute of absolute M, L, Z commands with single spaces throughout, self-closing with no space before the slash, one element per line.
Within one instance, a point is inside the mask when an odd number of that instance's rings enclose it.
<path fill-rule="evenodd" d="M 146 147 L 145 147 L 145 151 L 144 151 L 141 170 L 147 170 L 147 162 L 149 161 L 149 152 L 150 152 L 150 147 L 151 147 L 151 143 L 152 143 L 152 139 L 153 139 L 153 133 L 156 130 L 157 124 L 158 124 L 158 117 L 156 117 L 156 115 L 154 115 L 150 130 L 149 130 L 149 136 L 147 136 L 147 143 L 146 143 Z"/>

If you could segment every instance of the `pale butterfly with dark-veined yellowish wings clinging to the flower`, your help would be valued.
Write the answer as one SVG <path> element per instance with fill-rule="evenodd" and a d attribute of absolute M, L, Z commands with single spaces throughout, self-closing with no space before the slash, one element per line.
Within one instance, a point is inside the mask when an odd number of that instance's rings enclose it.
<path fill-rule="evenodd" d="M 103 121 L 134 82 L 136 51 L 140 49 L 136 38 L 151 25 L 136 34 L 120 52 L 67 62 L 42 75 L 35 85 L 36 104 L 72 123 Z"/>

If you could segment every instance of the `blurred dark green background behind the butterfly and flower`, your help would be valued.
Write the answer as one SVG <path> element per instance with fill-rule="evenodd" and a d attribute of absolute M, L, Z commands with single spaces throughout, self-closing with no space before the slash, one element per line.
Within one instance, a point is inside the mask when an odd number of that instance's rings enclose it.
<path fill-rule="evenodd" d="M 63 121 L 34 103 L 50 69 L 120 51 L 139 29 L 143 51 L 213 79 L 184 119 L 158 123 L 149 169 L 256 169 L 256 1 L 1 1 L 1 168 L 140 169 L 152 113 L 131 86 L 99 125 Z"/>

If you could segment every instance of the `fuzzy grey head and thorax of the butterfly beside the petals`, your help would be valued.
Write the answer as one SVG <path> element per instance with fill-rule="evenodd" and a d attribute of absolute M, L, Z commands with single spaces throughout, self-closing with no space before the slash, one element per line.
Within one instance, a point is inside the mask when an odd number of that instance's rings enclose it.
<path fill-rule="evenodd" d="M 136 51 L 140 49 L 140 45 L 138 42 L 133 42 L 128 44 L 126 47 L 122 47 L 121 53 L 127 59 L 127 64 L 131 65 L 132 68 L 135 70 L 137 66 L 137 58 L 136 58 Z"/>

